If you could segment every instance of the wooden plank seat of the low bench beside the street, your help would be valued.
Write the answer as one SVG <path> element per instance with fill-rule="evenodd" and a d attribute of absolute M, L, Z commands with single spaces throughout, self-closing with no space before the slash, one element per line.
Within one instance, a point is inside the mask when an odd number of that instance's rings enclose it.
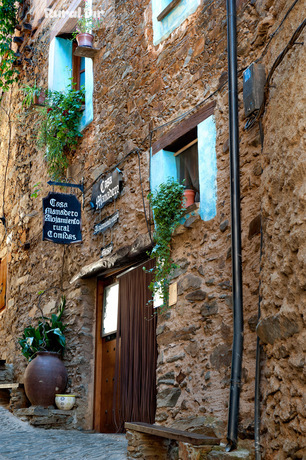
<path fill-rule="evenodd" d="M 189 433 L 188 431 L 176 430 L 165 426 L 150 425 L 149 423 L 130 423 L 125 422 L 127 430 L 138 431 L 139 433 L 146 433 L 152 436 L 159 436 L 161 438 L 174 439 L 175 441 L 188 442 L 194 445 L 219 445 L 221 439 L 213 436 L 205 436 L 204 434 Z"/>

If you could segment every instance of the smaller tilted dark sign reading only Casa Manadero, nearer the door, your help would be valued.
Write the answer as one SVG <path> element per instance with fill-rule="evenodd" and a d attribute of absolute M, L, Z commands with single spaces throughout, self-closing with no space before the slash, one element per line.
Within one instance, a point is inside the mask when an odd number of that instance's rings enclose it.
<path fill-rule="evenodd" d="M 98 181 L 92 188 L 91 206 L 102 209 L 115 200 L 122 191 L 122 172 L 116 168 L 109 176 Z"/>

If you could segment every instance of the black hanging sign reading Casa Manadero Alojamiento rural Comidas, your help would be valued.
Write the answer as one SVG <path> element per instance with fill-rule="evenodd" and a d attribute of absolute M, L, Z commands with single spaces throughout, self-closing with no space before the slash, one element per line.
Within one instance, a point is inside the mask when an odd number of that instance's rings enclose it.
<path fill-rule="evenodd" d="M 82 241 L 81 203 L 75 195 L 50 192 L 43 198 L 43 240 L 70 244 Z"/>

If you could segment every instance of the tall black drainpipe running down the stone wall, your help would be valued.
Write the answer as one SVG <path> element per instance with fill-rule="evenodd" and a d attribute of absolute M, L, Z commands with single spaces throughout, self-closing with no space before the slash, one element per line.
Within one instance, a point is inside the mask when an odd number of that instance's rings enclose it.
<path fill-rule="evenodd" d="M 231 238 L 234 337 L 227 427 L 227 451 L 237 447 L 241 364 L 243 352 L 242 263 L 239 181 L 239 125 L 237 83 L 236 0 L 226 0 L 231 178 Z"/>

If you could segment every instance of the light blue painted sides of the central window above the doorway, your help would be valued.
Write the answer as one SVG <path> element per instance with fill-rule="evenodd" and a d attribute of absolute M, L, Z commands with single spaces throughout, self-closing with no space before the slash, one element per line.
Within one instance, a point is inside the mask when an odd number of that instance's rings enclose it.
<path fill-rule="evenodd" d="M 217 214 L 217 131 L 214 115 L 197 125 L 197 136 L 200 185 L 199 215 L 202 220 L 208 221 Z M 160 150 L 155 155 L 151 155 L 150 159 L 150 185 L 153 192 L 169 177 L 178 180 L 177 158 L 173 152 Z"/>

